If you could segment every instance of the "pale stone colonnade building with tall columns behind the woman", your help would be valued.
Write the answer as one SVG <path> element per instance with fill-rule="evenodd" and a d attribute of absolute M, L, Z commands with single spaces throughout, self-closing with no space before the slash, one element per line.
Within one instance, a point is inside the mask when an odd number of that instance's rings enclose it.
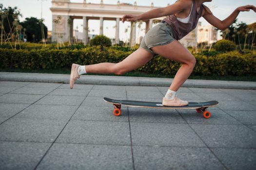
<path fill-rule="evenodd" d="M 115 43 L 119 43 L 119 23 L 120 18 L 125 14 L 139 15 L 149 10 L 155 9 L 154 4 L 151 6 L 138 6 L 135 1 L 133 5 L 120 3 L 117 1 L 117 5 L 104 4 L 103 0 L 99 4 L 87 3 L 83 0 L 83 3 L 70 2 L 70 0 L 52 0 L 52 11 L 53 16 L 53 31 L 52 41 L 68 41 L 74 37 L 73 34 L 73 20 L 83 20 L 83 34 L 82 40 L 85 44 L 88 44 L 88 20 L 98 19 L 100 21 L 99 34 L 103 34 L 103 21 L 114 20 L 116 21 L 116 36 Z M 161 20 L 164 17 L 154 18 Z M 147 32 L 153 25 L 153 19 L 143 20 L 146 23 L 145 32 Z M 131 23 L 132 24 L 132 23 Z M 131 45 L 136 44 L 136 24 L 131 25 L 130 42 Z"/>

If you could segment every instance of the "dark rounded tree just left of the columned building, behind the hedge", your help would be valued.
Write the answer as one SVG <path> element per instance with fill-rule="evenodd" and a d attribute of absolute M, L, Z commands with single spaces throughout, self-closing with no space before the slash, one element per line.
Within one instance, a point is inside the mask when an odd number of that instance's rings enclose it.
<path fill-rule="evenodd" d="M 27 40 L 30 42 L 39 42 L 42 40 L 42 32 L 41 32 L 41 25 L 40 20 L 36 17 L 26 17 L 23 22 L 20 22 L 23 28 L 26 29 Z M 47 38 L 47 27 L 42 23 L 43 26 L 43 33 L 46 35 Z"/>

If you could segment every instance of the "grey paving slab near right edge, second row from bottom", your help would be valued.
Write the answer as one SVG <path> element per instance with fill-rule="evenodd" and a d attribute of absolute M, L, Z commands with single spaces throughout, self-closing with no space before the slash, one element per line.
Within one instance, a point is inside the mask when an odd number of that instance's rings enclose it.
<path fill-rule="evenodd" d="M 190 125 L 209 147 L 255 148 L 256 133 L 245 125 Z"/>

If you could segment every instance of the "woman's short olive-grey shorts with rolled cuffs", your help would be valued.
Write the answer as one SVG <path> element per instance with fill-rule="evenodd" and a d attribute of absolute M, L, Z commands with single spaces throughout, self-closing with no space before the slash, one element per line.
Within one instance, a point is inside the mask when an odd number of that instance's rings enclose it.
<path fill-rule="evenodd" d="M 143 37 L 140 47 L 156 54 L 150 48 L 169 44 L 175 40 L 172 27 L 167 22 L 160 22 Z"/>

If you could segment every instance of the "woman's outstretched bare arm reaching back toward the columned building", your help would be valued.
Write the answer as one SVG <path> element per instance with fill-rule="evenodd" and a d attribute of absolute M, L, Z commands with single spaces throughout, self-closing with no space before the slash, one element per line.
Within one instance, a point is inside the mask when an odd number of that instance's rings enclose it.
<path fill-rule="evenodd" d="M 124 23 L 124 21 L 136 21 L 136 20 L 144 20 L 144 19 L 152 19 L 152 18 L 168 16 L 168 15 L 179 13 L 186 8 L 190 8 L 191 5 L 192 5 L 191 0 L 179 0 L 170 6 L 153 9 L 138 16 L 131 15 L 131 14 L 124 15 L 122 17 L 122 22 Z"/>

